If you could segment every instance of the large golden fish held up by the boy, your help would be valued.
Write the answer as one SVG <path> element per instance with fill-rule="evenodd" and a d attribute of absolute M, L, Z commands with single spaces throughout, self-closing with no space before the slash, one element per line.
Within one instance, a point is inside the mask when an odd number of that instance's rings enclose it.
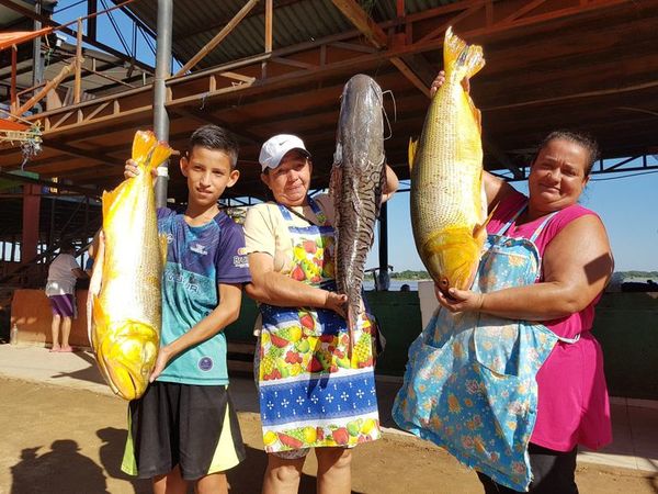
<path fill-rule="evenodd" d="M 167 240 L 158 235 L 151 170 L 171 154 L 138 131 L 139 175 L 103 192 L 103 238 L 88 299 L 89 339 L 101 374 L 126 400 L 144 394 L 160 345 L 161 282 Z"/>

